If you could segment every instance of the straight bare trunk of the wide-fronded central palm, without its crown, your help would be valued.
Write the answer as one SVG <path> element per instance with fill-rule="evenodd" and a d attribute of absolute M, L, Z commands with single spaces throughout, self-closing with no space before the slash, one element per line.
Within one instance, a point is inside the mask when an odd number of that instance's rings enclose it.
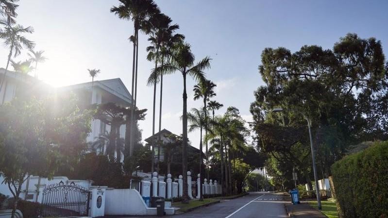
<path fill-rule="evenodd" d="M 182 119 L 182 171 L 183 171 L 183 196 L 182 203 L 188 203 L 187 188 L 187 93 L 186 93 L 186 72 L 183 73 L 183 119 Z"/>

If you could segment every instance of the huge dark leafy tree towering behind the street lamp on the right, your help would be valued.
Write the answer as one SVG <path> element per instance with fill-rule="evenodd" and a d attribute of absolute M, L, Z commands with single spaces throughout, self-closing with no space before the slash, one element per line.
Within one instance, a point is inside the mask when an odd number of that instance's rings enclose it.
<path fill-rule="evenodd" d="M 305 126 L 297 113 L 269 113 L 275 107 L 297 109 L 311 118 L 317 161 L 327 170 L 322 174 L 330 173 L 331 164 L 350 144 L 387 137 L 388 117 L 382 110 L 388 105 L 388 77 L 380 41 L 347 34 L 331 50 L 315 45 L 294 53 L 266 48 L 261 59 L 259 73 L 265 85 L 255 91 L 251 104 L 260 149 L 269 146 L 262 141 L 268 135 L 259 132 L 263 123 L 289 126 L 293 132 Z"/>

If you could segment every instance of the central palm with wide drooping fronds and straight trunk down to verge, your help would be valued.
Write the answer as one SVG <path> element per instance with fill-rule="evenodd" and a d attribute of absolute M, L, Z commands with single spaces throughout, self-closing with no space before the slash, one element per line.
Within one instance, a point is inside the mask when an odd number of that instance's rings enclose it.
<path fill-rule="evenodd" d="M 187 93 L 186 93 L 186 77 L 191 76 L 197 82 L 205 80 L 204 69 L 210 67 L 210 58 L 205 57 L 197 64 L 194 63 L 194 54 L 191 52 L 190 45 L 188 43 L 180 43 L 176 46 L 170 54 L 170 60 L 168 63 L 156 67 L 150 77 L 148 78 L 148 84 L 154 84 L 159 82 L 159 78 L 162 74 L 172 74 L 174 72 L 180 72 L 183 76 L 183 145 L 182 145 L 182 171 L 183 171 L 183 196 L 182 202 L 188 203 L 187 193 Z"/>

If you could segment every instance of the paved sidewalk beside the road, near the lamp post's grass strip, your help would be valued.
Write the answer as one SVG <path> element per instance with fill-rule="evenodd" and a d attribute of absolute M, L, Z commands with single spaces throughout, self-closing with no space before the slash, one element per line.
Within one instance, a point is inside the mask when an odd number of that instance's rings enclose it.
<path fill-rule="evenodd" d="M 286 204 L 286 210 L 290 218 L 327 218 L 307 203 Z"/>

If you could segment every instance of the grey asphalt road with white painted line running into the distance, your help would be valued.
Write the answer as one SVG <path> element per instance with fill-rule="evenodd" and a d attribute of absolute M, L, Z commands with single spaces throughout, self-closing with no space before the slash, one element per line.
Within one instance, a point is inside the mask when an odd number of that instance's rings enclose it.
<path fill-rule="evenodd" d="M 287 218 L 285 202 L 282 194 L 251 192 L 244 197 L 221 200 L 220 203 L 164 218 Z"/>

